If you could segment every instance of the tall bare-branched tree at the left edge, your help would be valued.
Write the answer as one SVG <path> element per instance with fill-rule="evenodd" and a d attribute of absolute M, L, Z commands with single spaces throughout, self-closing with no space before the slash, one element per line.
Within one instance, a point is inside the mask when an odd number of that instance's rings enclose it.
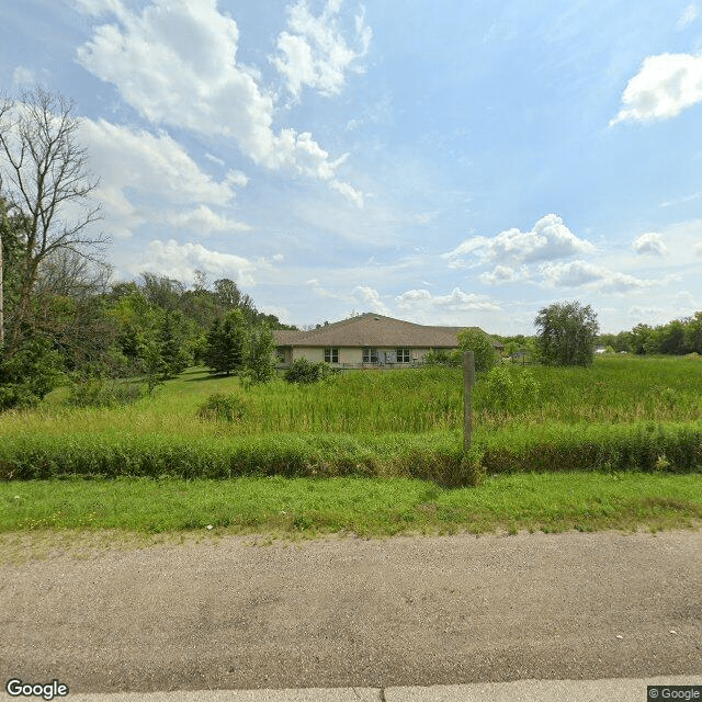
<path fill-rule="evenodd" d="M 19 349 L 31 328 L 32 296 L 45 261 L 70 250 L 100 260 L 106 239 L 93 234 L 100 207 L 91 202 L 98 181 L 79 144 L 75 103 L 43 88 L 21 102 L 0 101 L 0 181 L 9 208 L 26 218 L 20 246 L 19 294 L 7 353 Z M 7 313 L 7 310 L 5 310 Z M 30 329 L 31 330 L 31 329 Z"/>

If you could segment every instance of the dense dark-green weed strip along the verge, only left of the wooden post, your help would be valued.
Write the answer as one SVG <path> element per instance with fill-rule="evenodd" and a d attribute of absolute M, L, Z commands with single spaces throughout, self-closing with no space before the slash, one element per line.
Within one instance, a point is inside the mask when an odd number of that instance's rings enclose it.
<path fill-rule="evenodd" d="M 230 478 L 399 476 L 442 479 L 461 464 L 449 434 L 261 434 L 233 440 L 170 435 L 18 435 L 0 446 L 0 479 L 147 476 Z"/>

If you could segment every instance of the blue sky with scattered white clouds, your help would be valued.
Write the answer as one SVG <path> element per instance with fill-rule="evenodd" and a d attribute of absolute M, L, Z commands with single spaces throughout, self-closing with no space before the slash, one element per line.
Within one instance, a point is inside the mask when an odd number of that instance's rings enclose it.
<path fill-rule="evenodd" d="M 702 0 L 0 0 L 76 101 L 115 280 L 298 326 L 702 310 Z"/>

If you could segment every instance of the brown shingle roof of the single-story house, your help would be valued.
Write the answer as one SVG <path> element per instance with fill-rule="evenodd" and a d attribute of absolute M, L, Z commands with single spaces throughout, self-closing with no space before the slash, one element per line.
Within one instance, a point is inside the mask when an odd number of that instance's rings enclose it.
<path fill-rule="evenodd" d="M 478 327 L 472 327 L 478 329 Z M 455 349 L 464 327 L 430 327 L 365 313 L 310 331 L 273 331 L 279 347 L 419 347 Z M 482 330 L 480 330 L 482 331 Z M 499 341 L 488 337 L 494 346 Z"/>

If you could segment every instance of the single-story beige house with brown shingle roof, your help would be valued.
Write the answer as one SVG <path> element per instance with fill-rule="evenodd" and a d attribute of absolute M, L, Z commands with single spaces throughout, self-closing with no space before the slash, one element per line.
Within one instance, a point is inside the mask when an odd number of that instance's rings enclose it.
<path fill-rule="evenodd" d="M 278 329 L 273 336 L 280 367 L 303 358 L 340 369 L 407 367 L 423 363 L 431 350 L 457 349 L 461 329 L 464 327 L 430 327 L 365 313 L 309 331 Z M 501 342 L 488 339 L 496 351 L 502 350 Z"/>

